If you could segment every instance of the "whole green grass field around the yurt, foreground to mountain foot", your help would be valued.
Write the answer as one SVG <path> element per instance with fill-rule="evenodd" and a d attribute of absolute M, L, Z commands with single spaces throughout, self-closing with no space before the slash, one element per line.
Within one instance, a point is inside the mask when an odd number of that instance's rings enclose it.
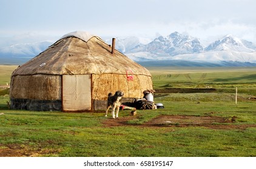
<path fill-rule="evenodd" d="M 6 69 L 3 84 L 12 72 Z M 255 68 L 148 69 L 160 91 L 154 100 L 164 109 L 136 116 L 124 110 L 118 120 L 104 111 L 9 110 L 8 91 L 0 89 L 0 156 L 256 156 Z"/>

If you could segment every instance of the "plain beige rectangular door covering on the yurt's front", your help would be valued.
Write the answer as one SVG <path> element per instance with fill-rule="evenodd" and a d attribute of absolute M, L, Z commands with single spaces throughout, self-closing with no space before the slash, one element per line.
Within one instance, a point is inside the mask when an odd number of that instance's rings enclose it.
<path fill-rule="evenodd" d="M 91 109 L 90 75 L 62 75 L 62 110 Z"/>

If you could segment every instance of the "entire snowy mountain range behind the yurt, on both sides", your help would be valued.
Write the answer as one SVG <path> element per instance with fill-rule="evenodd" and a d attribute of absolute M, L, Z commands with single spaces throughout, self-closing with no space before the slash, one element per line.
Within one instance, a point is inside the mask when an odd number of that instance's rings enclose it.
<path fill-rule="evenodd" d="M 53 42 L 35 42 L 0 48 L 0 63 L 22 64 Z M 110 39 L 106 43 L 111 44 Z M 204 45 L 197 37 L 174 32 L 155 39 L 117 37 L 116 49 L 143 64 L 174 66 L 256 66 L 256 45 L 228 34 Z"/>

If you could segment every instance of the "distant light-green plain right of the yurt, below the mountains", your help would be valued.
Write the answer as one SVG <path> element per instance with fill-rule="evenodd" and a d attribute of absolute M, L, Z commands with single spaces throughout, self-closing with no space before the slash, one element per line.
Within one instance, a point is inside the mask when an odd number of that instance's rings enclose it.
<path fill-rule="evenodd" d="M 168 68 L 166 68 L 168 69 Z M 155 88 L 254 88 L 256 68 L 171 69 L 149 68 Z"/>

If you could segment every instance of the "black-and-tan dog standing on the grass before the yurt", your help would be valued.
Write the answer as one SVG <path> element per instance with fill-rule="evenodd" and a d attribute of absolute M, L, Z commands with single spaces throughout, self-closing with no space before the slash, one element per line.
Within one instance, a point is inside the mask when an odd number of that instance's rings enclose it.
<path fill-rule="evenodd" d="M 106 109 L 106 115 L 107 116 L 107 111 L 112 108 L 111 115 L 113 118 L 118 118 L 118 113 L 121 105 L 121 98 L 123 97 L 124 93 L 121 91 L 116 91 L 115 95 L 112 93 L 109 93 L 107 96 L 107 109 Z M 115 115 L 115 109 L 116 109 L 116 115 Z"/>

